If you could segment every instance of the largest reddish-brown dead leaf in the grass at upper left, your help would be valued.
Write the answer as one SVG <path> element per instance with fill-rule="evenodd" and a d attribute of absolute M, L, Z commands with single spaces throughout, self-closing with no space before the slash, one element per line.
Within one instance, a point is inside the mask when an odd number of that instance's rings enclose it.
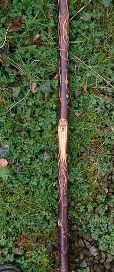
<path fill-rule="evenodd" d="M 17 16 L 14 20 L 9 21 L 8 32 L 19 30 L 23 23 L 24 23 L 24 15 Z"/>

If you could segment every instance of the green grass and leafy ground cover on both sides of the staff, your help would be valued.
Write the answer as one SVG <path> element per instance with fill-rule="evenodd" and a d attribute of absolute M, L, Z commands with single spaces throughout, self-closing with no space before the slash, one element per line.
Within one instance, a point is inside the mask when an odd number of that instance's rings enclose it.
<path fill-rule="evenodd" d="M 70 17 L 85 3 L 71 0 Z M 91 20 L 84 22 L 80 16 L 87 12 Z M 0 46 L 9 21 L 22 15 L 24 23 L 7 33 L 0 51 L 5 58 L 0 62 L 0 147 L 9 146 L 9 153 L 2 153 L 8 167 L 0 169 L 0 264 L 13 261 L 24 272 L 51 272 L 54 256 L 46 244 L 58 239 L 57 185 L 53 187 L 58 80 L 52 80 L 58 71 L 57 2 L 9 1 L 6 11 L 0 10 Z M 107 8 L 95 0 L 70 21 L 69 225 L 100 237 L 100 249 L 107 243 L 108 253 L 114 251 L 114 226 L 108 226 L 101 189 L 114 142 L 113 17 L 113 3 Z M 36 34 L 42 46 L 33 44 Z M 108 202 L 113 205 L 113 196 Z M 96 220 L 92 211 L 98 204 Z M 24 255 L 15 255 L 14 243 L 25 233 Z M 58 267 L 58 258 L 55 262 Z"/>

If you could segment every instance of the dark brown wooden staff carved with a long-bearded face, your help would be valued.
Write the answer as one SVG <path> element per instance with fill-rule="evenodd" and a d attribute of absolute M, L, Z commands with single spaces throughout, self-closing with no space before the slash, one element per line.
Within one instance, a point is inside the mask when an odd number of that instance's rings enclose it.
<path fill-rule="evenodd" d="M 69 0 L 58 0 L 58 228 L 60 272 L 68 272 L 67 131 L 69 108 Z"/>

